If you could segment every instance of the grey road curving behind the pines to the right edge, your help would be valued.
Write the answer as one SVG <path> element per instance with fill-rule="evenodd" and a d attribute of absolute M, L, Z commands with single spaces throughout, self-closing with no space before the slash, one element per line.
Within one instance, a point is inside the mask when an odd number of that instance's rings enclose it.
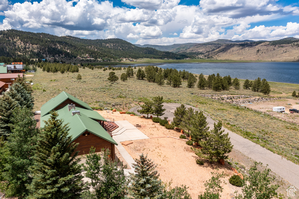
<path fill-rule="evenodd" d="M 174 111 L 180 105 L 181 104 L 178 103 L 163 103 L 163 108 L 166 109 L 164 111 L 165 114 L 163 115 L 163 117 L 168 117 L 168 119 L 173 120 Z M 190 105 L 185 106 L 186 108 L 192 107 Z M 192 108 L 193 110 L 200 111 L 198 108 Z M 137 106 L 131 108 L 129 111 L 139 114 L 137 112 L 138 109 L 140 109 L 140 107 Z M 210 128 L 213 128 L 213 124 L 215 121 L 208 115 L 206 115 L 206 117 L 208 126 Z M 292 184 L 292 186 L 299 188 L 299 165 L 296 165 L 295 163 L 286 160 L 280 155 L 272 153 L 271 151 L 261 147 L 260 145 L 257 145 L 251 142 L 250 140 L 247 140 L 242 136 L 239 136 L 238 134 L 229 131 L 226 128 L 223 129 L 225 130 L 225 133 L 229 134 L 231 143 L 234 145 L 234 149 L 237 149 L 241 153 L 247 155 L 248 157 L 257 162 L 262 162 L 264 165 L 268 164 L 268 167 L 272 170 L 272 172 L 287 180 L 289 183 Z"/>

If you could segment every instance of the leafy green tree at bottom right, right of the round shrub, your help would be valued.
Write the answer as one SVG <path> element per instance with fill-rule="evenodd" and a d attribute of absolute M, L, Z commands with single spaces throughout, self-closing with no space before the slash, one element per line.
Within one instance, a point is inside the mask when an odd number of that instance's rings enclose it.
<path fill-rule="evenodd" d="M 272 184 L 275 177 L 269 177 L 271 169 L 266 168 L 263 171 L 259 171 L 257 168 L 257 166 L 262 164 L 254 162 L 254 166 L 249 169 L 249 176 L 246 178 L 248 183 L 245 183 L 242 188 L 243 194 L 239 194 L 236 197 L 237 199 L 270 199 L 277 195 L 279 185 Z"/>

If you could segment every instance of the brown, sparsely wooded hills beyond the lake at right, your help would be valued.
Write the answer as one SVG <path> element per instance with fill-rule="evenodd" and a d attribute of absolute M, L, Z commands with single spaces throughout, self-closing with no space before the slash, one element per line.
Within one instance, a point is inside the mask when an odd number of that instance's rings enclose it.
<path fill-rule="evenodd" d="M 139 45 L 140 46 L 140 45 Z M 141 47 L 145 47 L 143 45 Z M 299 39 L 289 37 L 275 41 L 232 41 L 218 39 L 205 43 L 186 43 L 168 46 L 150 45 L 156 49 L 197 56 L 200 58 L 245 61 L 299 61 Z"/>

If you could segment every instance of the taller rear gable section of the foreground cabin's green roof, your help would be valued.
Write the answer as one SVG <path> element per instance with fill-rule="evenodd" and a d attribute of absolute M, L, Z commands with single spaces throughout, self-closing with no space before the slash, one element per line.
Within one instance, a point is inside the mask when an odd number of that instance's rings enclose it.
<path fill-rule="evenodd" d="M 52 111 L 54 108 L 56 108 L 58 105 L 60 105 L 62 102 L 64 102 L 67 99 L 70 99 L 73 102 L 76 102 L 77 104 L 80 104 L 81 106 L 85 107 L 86 109 L 89 109 L 92 111 L 92 109 L 90 108 L 90 106 L 88 104 L 86 104 L 85 102 L 66 93 L 65 91 L 62 91 L 59 95 L 57 95 L 56 97 L 52 98 L 51 100 L 46 102 L 44 105 L 42 105 L 42 107 L 40 108 L 41 117 L 48 114 L 50 111 Z"/>

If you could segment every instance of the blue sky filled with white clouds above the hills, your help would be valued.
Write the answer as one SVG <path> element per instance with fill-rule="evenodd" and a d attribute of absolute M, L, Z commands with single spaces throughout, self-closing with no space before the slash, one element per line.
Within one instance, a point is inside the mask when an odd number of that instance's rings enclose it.
<path fill-rule="evenodd" d="M 171 45 L 299 38 L 299 0 L 0 0 L 0 29 Z"/>

